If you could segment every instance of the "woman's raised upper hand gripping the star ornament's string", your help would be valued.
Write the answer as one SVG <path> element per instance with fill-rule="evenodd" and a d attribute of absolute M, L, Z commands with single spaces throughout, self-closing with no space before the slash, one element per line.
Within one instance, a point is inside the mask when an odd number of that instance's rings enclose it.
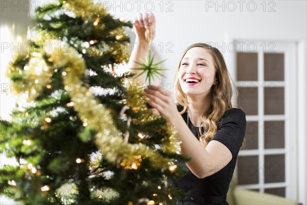
<path fill-rule="evenodd" d="M 134 25 L 137 39 L 140 42 L 152 42 L 156 35 L 156 17 L 153 13 L 139 13 Z"/>

